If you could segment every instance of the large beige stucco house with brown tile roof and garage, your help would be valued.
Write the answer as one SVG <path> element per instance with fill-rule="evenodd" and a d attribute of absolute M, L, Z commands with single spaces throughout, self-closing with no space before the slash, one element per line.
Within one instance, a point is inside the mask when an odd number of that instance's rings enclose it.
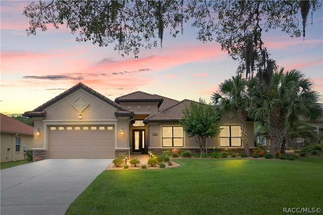
<path fill-rule="evenodd" d="M 140 91 L 112 101 L 79 83 L 24 115 L 39 128 L 33 151 L 41 159 L 115 158 L 142 150 L 198 150 L 195 139 L 177 126 L 189 103 Z M 224 129 L 207 140 L 207 147 L 243 150 L 237 112 L 222 116 L 220 123 Z M 248 129 L 253 147 L 252 122 Z"/>

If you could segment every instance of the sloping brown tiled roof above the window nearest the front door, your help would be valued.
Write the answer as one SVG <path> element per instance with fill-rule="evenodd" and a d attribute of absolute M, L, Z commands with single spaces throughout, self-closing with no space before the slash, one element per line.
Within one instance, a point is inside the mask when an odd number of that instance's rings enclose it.
<path fill-rule="evenodd" d="M 189 107 L 191 100 L 185 99 L 172 107 L 165 109 L 155 115 L 148 116 L 144 119 L 144 123 L 148 122 L 178 122 L 183 116 L 185 107 Z"/>

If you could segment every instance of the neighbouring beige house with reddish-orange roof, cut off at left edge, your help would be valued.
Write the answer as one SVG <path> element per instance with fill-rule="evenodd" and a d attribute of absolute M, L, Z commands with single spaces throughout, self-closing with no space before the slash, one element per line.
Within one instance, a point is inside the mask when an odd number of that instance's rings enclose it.
<path fill-rule="evenodd" d="M 1 162 L 26 159 L 26 151 L 33 147 L 34 128 L 0 113 Z"/>

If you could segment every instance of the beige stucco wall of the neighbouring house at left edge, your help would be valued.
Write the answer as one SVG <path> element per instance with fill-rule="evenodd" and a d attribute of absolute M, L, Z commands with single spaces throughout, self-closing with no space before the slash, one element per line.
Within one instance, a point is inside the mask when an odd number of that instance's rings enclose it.
<path fill-rule="evenodd" d="M 8 162 L 12 160 L 24 160 L 24 146 L 27 146 L 28 149 L 31 149 L 33 147 L 33 135 L 18 133 L 18 135 L 16 136 L 16 133 L 1 132 L 0 136 L 1 162 Z M 19 153 L 16 152 L 16 138 L 21 138 Z M 8 148 L 10 148 L 9 151 Z"/>

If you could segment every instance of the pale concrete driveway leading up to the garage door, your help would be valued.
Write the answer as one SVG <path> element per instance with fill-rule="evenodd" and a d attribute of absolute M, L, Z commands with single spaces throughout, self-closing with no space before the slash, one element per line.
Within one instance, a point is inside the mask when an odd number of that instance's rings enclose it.
<path fill-rule="evenodd" d="M 5 214 L 65 214 L 113 159 L 46 159 L 1 170 Z"/>

